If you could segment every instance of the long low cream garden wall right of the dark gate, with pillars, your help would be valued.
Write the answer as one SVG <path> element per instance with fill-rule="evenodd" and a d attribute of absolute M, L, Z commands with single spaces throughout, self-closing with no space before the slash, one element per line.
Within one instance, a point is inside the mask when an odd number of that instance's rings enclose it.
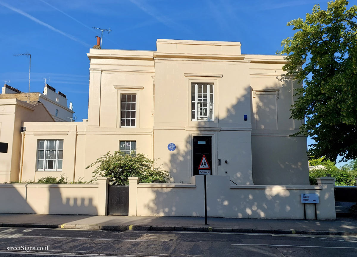
<path fill-rule="evenodd" d="M 317 193 L 318 219 L 336 219 L 334 178 L 317 179 L 318 186 L 230 185 L 229 176 L 207 176 L 207 215 L 226 218 L 303 219 L 302 193 Z M 204 216 L 203 176 L 191 184 L 137 184 L 130 178 L 129 215 Z M 306 204 L 306 218 L 315 218 Z"/>

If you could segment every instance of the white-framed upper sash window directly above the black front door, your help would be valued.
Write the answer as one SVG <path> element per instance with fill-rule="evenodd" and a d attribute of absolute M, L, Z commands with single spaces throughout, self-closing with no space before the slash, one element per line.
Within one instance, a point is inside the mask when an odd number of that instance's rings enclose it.
<path fill-rule="evenodd" d="M 213 84 L 191 84 L 191 118 L 193 121 L 213 120 Z"/>

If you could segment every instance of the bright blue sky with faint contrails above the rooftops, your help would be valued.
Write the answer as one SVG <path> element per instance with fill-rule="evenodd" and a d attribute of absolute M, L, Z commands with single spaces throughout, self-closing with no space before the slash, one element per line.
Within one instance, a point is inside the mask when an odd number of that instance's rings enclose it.
<path fill-rule="evenodd" d="M 312 0 L 0 0 L 0 79 L 26 92 L 28 59 L 13 55 L 30 53 L 31 92 L 42 92 L 42 78 L 50 78 L 81 120 L 88 113 L 86 53 L 100 35 L 92 26 L 112 30 L 103 48 L 156 50 L 160 38 L 239 41 L 242 53 L 275 54 L 293 35 L 287 22 L 305 18 L 314 4 L 327 8 Z"/>

